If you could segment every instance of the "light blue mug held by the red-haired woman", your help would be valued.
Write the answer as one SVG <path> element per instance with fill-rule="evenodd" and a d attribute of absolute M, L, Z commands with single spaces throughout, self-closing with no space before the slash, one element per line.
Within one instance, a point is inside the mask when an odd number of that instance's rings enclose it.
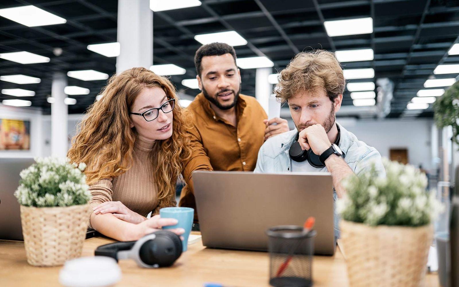
<path fill-rule="evenodd" d="M 175 218 L 179 220 L 178 224 L 164 226 L 162 229 L 185 229 L 185 233 L 182 235 L 184 238 L 182 241 L 182 247 L 183 251 L 186 251 L 188 247 L 188 236 L 190 236 L 191 225 L 193 225 L 195 210 L 189 207 L 166 207 L 159 210 L 159 215 L 161 218 Z"/>

